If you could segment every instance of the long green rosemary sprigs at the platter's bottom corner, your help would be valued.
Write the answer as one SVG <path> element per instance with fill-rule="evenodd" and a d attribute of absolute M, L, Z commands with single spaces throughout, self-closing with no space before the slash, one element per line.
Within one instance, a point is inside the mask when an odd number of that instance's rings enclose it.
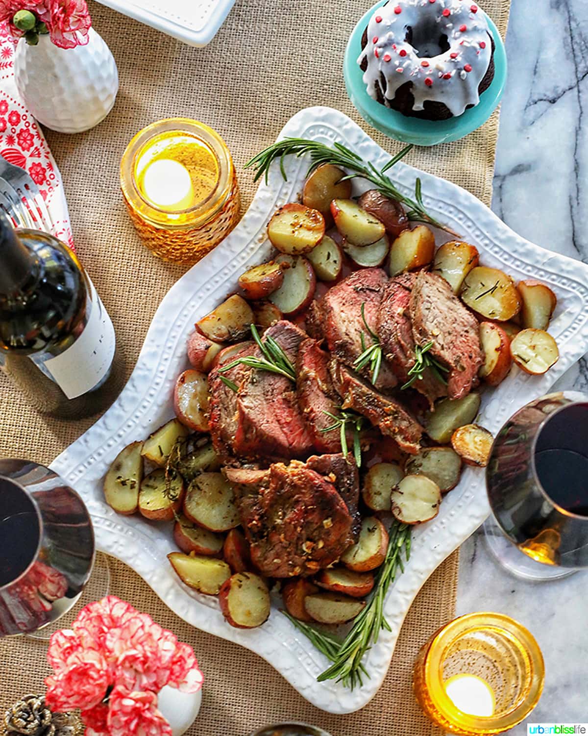
<path fill-rule="evenodd" d="M 321 673 L 317 680 L 336 679 L 345 687 L 353 690 L 355 685 L 363 684 L 361 676 L 369 678 L 363 665 L 364 654 L 378 642 L 382 629 L 390 631 L 390 625 L 383 615 L 384 601 L 390 585 L 397 576 L 398 570 L 404 571 L 403 556 L 408 560 L 411 553 L 411 528 L 394 521 L 389 530 L 386 559 L 376 574 L 375 586 L 365 608 L 355 618 L 353 626 L 342 642 L 330 634 L 324 634 L 311 624 L 293 619 L 286 612 L 284 615 L 296 626 L 308 640 L 333 662 Z"/>

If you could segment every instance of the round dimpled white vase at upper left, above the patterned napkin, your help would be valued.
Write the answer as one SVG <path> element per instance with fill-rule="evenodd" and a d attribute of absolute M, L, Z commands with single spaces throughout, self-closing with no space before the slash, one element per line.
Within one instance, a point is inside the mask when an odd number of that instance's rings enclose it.
<path fill-rule="evenodd" d="M 118 92 L 113 54 L 91 28 L 88 43 L 60 49 L 49 35 L 37 46 L 21 38 L 14 60 L 18 93 L 32 115 L 52 130 L 79 133 L 104 120 Z"/>

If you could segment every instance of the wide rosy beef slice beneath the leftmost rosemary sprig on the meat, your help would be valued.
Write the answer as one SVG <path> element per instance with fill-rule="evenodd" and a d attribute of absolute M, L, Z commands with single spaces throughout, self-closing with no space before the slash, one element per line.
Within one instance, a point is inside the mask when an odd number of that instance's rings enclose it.
<path fill-rule="evenodd" d="M 306 333 L 291 322 L 280 320 L 263 333 L 262 341 L 268 336 L 272 336 L 295 366 Z M 258 357 L 261 354 L 258 347 L 254 354 Z M 289 378 L 252 369 L 239 387 L 237 414 L 233 437 L 237 456 L 269 461 L 300 458 L 313 448 L 313 438 L 298 406 L 296 385 Z"/>

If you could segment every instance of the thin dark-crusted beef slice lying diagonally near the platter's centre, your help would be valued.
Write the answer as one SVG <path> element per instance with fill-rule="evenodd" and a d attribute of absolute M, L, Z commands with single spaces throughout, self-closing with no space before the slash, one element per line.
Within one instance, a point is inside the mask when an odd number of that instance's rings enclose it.
<path fill-rule="evenodd" d="M 419 451 L 422 427 L 400 401 L 380 394 L 339 361 L 331 361 L 330 373 L 343 408 L 362 414 L 382 434 L 393 437 L 405 452 L 414 455 Z"/>

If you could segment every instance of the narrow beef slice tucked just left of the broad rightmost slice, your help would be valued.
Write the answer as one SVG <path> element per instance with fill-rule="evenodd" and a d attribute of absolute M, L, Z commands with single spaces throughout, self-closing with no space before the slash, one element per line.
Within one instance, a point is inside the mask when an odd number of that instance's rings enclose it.
<path fill-rule="evenodd" d="M 415 361 L 410 302 L 416 279 L 414 273 L 390 279 L 378 314 L 378 336 L 383 354 L 392 365 L 400 385 L 410 378 L 408 371 Z M 415 381 L 412 387 L 427 397 L 431 408 L 436 399 L 447 395 L 447 387 L 430 369 L 422 372 L 422 378 Z"/>

